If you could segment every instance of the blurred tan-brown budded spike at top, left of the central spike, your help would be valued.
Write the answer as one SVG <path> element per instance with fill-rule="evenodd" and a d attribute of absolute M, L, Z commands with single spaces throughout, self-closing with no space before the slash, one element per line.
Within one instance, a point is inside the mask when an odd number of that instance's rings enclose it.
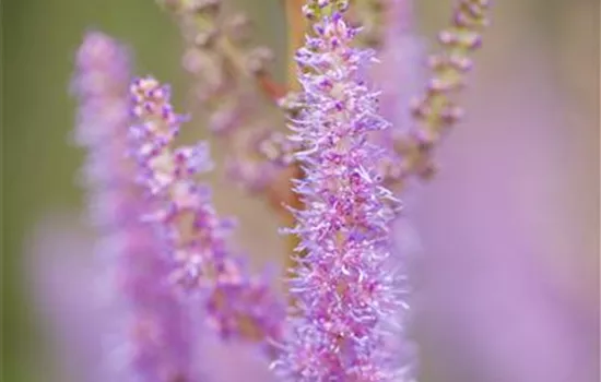
<path fill-rule="evenodd" d="M 259 139 L 284 123 L 274 99 L 283 89 L 271 79 L 274 57 L 254 46 L 244 13 L 223 0 L 157 0 L 169 10 L 186 41 L 182 67 L 193 77 L 193 107 L 226 151 L 229 178 L 247 191 L 263 191 L 280 171 L 259 155 Z M 278 203 L 274 203 L 278 204 Z"/>

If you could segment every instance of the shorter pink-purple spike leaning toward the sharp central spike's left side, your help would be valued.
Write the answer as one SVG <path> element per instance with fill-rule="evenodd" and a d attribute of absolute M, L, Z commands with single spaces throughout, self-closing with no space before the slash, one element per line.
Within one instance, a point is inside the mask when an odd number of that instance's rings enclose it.
<path fill-rule="evenodd" d="M 185 117 L 174 112 L 168 87 L 152 77 L 130 88 L 138 119 L 130 132 L 140 182 L 154 203 L 146 219 L 163 234 L 176 262 L 174 280 L 200 291 L 209 323 L 223 338 L 276 341 L 284 318 L 282 302 L 266 277 L 251 276 L 228 248 L 234 222 L 221 218 L 210 189 L 195 176 L 211 168 L 205 143 L 172 148 Z"/>

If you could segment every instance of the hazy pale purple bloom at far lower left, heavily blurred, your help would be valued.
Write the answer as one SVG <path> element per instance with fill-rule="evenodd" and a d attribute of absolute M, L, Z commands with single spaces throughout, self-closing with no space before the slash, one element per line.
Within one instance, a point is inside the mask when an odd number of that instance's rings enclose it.
<path fill-rule="evenodd" d="M 106 264 L 86 255 L 93 240 L 74 219 L 50 216 L 39 222 L 27 240 L 26 271 L 31 293 L 57 361 L 56 382 L 103 382 L 110 375 L 104 356 L 104 335 L 114 314 L 103 295 L 110 290 L 102 275 Z"/>

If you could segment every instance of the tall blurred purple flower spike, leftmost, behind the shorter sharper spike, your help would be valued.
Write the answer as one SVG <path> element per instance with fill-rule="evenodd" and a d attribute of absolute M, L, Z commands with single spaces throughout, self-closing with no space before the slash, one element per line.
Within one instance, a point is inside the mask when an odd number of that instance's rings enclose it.
<path fill-rule="evenodd" d="M 90 32 L 76 64 L 74 93 L 81 103 L 76 139 L 90 152 L 85 179 L 92 220 L 101 236 L 96 251 L 115 265 L 116 287 L 128 317 L 117 344 L 123 346 L 128 361 L 111 372 L 121 381 L 196 381 L 189 307 L 167 283 L 170 261 L 158 251 L 152 229 L 140 222 L 149 205 L 134 181 L 135 164 L 126 157 L 128 55 L 110 37 Z"/>

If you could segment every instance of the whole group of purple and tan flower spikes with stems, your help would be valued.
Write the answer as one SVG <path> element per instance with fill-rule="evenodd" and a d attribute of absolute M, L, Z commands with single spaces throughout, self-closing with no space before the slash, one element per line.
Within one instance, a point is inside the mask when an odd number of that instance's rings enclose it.
<path fill-rule="evenodd" d="M 420 65 L 402 51 L 409 0 L 288 1 L 287 86 L 270 75 L 270 50 L 250 47 L 247 19 L 222 2 L 158 1 L 181 27 L 192 99 L 229 178 L 284 217 L 288 296 L 250 272 L 229 239 L 235 220 L 199 182 L 213 167 L 208 144 L 176 145 L 195 120 L 175 111 L 167 85 L 131 75 L 118 41 L 90 32 L 76 56 L 76 138 L 89 152 L 96 251 L 111 260 L 126 311 L 113 378 L 204 381 L 198 336 L 216 334 L 252 346 L 282 381 L 413 381 L 411 279 L 390 227 L 402 191 L 434 175 L 432 152 L 461 117 L 452 96 L 487 1 L 457 4 L 416 98 L 405 87 Z"/>

